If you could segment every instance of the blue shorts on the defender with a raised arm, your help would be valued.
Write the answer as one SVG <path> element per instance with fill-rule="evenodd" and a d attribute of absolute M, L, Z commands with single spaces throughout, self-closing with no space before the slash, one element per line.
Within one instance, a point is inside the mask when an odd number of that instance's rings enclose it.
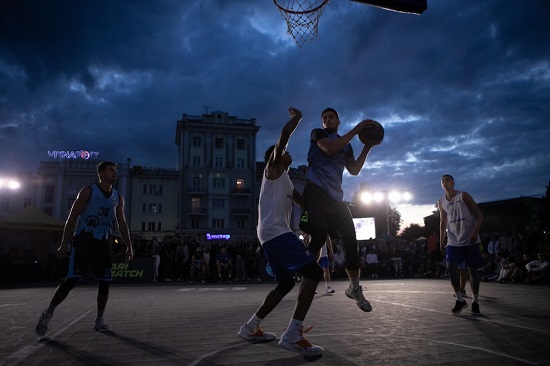
<path fill-rule="evenodd" d="M 293 233 L 268 240 L 262 248 L 277 280 L 293 279 L 300 268 L 317 260 Z"/>

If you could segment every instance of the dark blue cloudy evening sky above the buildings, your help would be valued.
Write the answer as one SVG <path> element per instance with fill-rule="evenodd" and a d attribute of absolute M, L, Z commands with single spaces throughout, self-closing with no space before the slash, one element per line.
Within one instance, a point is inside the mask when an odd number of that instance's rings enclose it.
<path fill-rule="evenodd" d="M 542 196 L 550 180 L 550 2 L 428 0 L 422 15 L 330 0 L 298 47 L 272 0 L 24 1 L 0 5 L 0 174 L 48 150 L 176 168 L 182 114 L 256 118 L 258 160 L 303 111 L 289 151 L 306 164 L 320 113 L 341 134 L 380 121 L 367 184 L 408 190 L 422 224 L 450 173 L 477 202 Z M 361 143 L 352 141 L 356 155 Z M 402 226 L 403 227 L 403 226 Z"/>

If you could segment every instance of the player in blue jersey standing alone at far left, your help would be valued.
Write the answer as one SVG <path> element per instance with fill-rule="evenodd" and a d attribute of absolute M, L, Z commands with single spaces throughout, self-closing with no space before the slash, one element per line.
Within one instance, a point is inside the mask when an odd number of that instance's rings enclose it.
<path fill-rule="evenodd" d="M 126 244 L 126 261 L 132 260 L 134 249 L 124 217 L 124 198 L 113 188 L 117 178 L 116 164 L 110 161 L 99 163 L 97 175 L 99 183 L 85 186 L 80 190 L 65 223 L 57 254 L 62 258 L 70 246 L 67 277 L 55 290 L 48 308 L 40 315 L 35 328 L 39 336 L 46 334 L 55 308 L 65 300 L 90 266 L 99 285 L 94 329 L 98 332 L 109 330 L 104 323 L 103 313 L 109 298 L 112 268 L 109 238 L 115 218 Z"/>

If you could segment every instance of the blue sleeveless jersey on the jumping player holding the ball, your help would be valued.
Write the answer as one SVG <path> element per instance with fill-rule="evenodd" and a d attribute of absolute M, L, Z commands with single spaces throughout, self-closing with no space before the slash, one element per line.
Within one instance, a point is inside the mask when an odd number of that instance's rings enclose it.
<path fill-rule="evenodd" d="M 306 179 L 322 187 L 332 199 L 343 201 L 342 176 L 346 160 L 350 154 L 353 155 L 353 149 L 350 144 L 347 144 L 336 154 L 327 155 L 317 146 L 317 141 L 322 137 L 334 140 L 340 136 L 336 133 L 328 134 L 321 128 L 311 131 Z"/>

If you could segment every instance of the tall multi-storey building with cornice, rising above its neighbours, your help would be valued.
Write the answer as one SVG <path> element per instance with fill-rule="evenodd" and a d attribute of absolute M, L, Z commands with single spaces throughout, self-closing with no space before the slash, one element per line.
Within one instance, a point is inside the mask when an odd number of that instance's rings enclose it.
<path fill-rule="evenodd" d="M 256 119 L 225 112 L 177 121 L 178 233 L 210 239 L 254 236 Z"/>

